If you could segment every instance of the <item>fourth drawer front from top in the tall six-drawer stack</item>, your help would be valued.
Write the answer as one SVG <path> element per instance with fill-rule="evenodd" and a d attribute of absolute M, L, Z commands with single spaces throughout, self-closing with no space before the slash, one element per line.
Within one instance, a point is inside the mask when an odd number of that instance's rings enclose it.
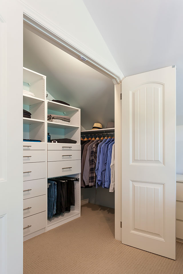
<path fill-rule="evenodd" d="M 23 182 L 23 200 L 47 193 L 47 179 Z"/>

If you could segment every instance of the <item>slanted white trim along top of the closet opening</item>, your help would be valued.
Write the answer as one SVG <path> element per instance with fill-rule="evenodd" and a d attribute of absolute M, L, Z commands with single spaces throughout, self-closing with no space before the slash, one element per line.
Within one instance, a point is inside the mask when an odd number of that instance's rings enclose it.
<path fill-rule="evenodd" d="M 82 44 L 80 44 L 79 48 L 78 48 L 78 45 L 75 45 L 75 43 L 74 43 L 75 42 L 74 39 L 71 42 L 68 41 L 67 34 L 65 34 L 64 32 L 62 32 L 60 35 L 59 33 L 56 33 L 55 30 L 51 29 L 50 27 L 45 27 L 45 25 L 43 25 L 43 23 L 40 23 L 39 19 L 33 18 L 33 16 L 28 14 L 28 12 L 25 10 L 23 13 L 23 20 L 24 20 L 24 26 L 27 29 L 29 29 L 33 33 L 37 34 L 41 38 L 45 39 L 49 43 L 60 48 L 61 50 L 69 53 L 70 55 L 72 55 L 73 57 L 78 59 L 79 61 L 88 65 L 89 67 L 92 67 L 95 70 L 97 70 L 98 72 L 107 76 L 108 78 L 110 78 L 113 81 L 114 84 L 120 84 L 122 82 L 122 80 L 124 78 L 122 72 L 120 73 L 120 71 L 119 71 L 119 73 L 118 73 L 115 71 L 115 69 L 113 67 L 107 68 L 106 66 L 102 65 L 102 63 L 100 63 L 100 61 L 96 61 L 96 60 L 98 60 L 97 56 L 95 56 L 95 58 L 94 58 L 94 57 L 91 57 L 92 53 L 90 56 L 88 54 L 86 54 L 85 47 Z M 39 22 L 38 22 L 38 20 L 39 20 Z M 86 61 L 83 59 L 80 59 L 80 57 L 83 57 L 84 59 L 86 59 Z"/>

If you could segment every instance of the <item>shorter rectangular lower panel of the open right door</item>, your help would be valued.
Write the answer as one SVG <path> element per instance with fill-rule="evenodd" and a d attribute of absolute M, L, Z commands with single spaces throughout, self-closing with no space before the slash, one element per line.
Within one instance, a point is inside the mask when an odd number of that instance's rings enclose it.
<path fill-rule="evenodd" d="M 130 181 L 130 232 L 164 240 L 164 184 Z"/>

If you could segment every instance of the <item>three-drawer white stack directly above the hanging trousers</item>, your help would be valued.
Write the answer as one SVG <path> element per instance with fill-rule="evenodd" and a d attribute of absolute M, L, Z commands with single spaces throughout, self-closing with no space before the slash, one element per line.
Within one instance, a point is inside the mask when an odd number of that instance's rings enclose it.
<path fill-rule="evenodd" d="M 48 178 L 81 172 L 80 144 L 47 144 Z"/>

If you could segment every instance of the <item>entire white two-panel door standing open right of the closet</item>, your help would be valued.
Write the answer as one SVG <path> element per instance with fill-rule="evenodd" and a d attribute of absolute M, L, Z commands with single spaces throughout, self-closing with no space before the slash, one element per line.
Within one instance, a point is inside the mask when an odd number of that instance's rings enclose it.
<path fill-rule="evenodd" d="M 176 68 L 122 81 L 122 243 L 176 258 Z"/>

